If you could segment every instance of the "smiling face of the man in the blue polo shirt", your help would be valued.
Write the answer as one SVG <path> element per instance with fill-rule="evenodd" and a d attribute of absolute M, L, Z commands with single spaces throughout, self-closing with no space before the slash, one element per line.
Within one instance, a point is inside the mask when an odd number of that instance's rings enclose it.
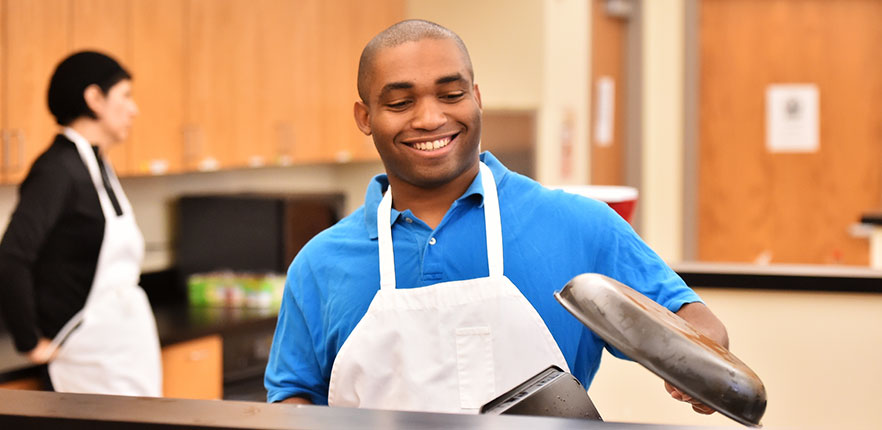
<path fill-rule="evenodd" d="M 478 171 L 481 95 L 456 43 L 423 39 L 377 52 L 355 117 L 390 182 L 433 189 Z"/>

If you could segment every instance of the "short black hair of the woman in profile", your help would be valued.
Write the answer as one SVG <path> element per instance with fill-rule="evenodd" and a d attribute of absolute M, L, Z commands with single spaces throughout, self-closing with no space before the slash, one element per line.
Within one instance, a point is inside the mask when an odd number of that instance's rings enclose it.
<path fill-rule="evenodd" d="M 116 60 L 94 51 L 82 51 L 65 58 L 49 81 L 49 112 L 55 122 L 68 125 L 85 116 L 97 118 L 86 105 L 83 92 L 89 85 L 98 85 L 107 94 L 111 87 L 124 79 L 132 79 Z"/>

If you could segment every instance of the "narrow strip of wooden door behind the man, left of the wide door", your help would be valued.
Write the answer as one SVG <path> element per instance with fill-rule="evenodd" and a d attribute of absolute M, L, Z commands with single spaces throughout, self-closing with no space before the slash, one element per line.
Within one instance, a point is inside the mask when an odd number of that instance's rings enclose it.
<path fill-rule="evenodd" d="M 606 0 L 591 2 L 591 118 L 588 121 L 591 142 L 591 183 L 595 185 L 625 184 L 625 48 L 628 21 L 611 16 Z M 600 87 L 612 89 L 612 127 L 606 137 L 596 138 L 600 124 Z"/>

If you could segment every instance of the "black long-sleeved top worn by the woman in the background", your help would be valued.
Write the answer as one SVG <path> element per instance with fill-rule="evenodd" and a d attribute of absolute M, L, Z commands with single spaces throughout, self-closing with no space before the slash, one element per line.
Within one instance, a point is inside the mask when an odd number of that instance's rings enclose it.
<path fill-rule="evenodd" d="M 53 338 L 83 308 L 103 239 L 104 213 L 89 170 L 59 134 L 22 182 L 0 242 L 0 316 L 16 349 Z"/>

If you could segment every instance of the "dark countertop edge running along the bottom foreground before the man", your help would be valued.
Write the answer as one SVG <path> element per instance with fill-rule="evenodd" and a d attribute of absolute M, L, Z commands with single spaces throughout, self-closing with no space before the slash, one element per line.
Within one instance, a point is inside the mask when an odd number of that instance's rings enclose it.
<path fill-rule="evenodd" d="M 682 429 L 514 415 L 458 415 L 256 402 L 182 400 L 0 389 L 0 428 L 65 429 Z M 727 427 L 695 429 L 741 429 Z"/>

